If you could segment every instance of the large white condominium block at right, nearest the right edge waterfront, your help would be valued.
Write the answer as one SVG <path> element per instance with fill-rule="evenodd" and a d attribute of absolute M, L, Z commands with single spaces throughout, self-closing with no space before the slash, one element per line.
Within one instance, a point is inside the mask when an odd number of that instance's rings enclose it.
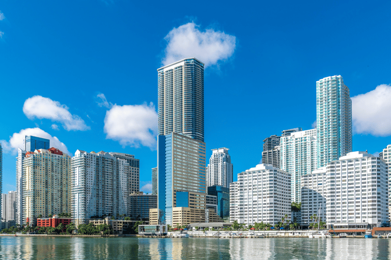
<path fill-rule="evenodd" d="M 388 220 L 388 168 L 380 157 L 350 152 L 327 163 L 327 226 Z"/>

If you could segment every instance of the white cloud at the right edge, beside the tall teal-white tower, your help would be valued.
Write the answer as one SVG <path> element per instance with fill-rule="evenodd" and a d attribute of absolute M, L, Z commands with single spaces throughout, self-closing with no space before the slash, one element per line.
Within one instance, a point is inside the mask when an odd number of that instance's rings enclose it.
<path fill-rule="evenodd" d="M 353 129 L 357 134 L 391 135 L 391 86 L 382 84 L 352 98 Z"/>

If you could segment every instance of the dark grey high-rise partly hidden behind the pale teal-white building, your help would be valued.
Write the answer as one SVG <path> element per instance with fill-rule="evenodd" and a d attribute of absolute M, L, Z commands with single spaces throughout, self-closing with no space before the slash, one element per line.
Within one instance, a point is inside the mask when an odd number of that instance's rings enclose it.
<path fill-rule="evenodd" d="M 281 136 L 272 135 L 263 140 L 262 164 L 269 164 L 280 168 L 280 139 L 290 136 L 292 133 L 300 132 L 301 127 L 286 129 L 282 131 Z"/>

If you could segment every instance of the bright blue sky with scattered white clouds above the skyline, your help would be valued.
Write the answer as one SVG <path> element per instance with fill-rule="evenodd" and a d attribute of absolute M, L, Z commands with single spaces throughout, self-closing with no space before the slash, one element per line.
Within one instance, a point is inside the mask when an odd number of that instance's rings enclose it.
<path fill-rule="evenodd" d="M 311 129 L 316 81 L 350 89 L 353 151 L 391 144 L 390 1 L 230 3 L 125 0 L 0 4 L 3 193 L 15 189 L 24 135 L 73 155 L 140 159 L 141 190 L 156 167 L 157 69 L 205 63 L 205 142 L 227 147 L 237 173 L 261 161 L 262 140 Z"/>

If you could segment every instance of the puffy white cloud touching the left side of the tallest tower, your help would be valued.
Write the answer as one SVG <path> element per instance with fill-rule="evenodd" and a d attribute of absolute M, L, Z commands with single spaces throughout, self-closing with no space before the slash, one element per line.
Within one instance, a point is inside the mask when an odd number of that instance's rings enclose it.
<path fill-rule="evenodd" d="M 114 105 L 104 118 L 106 139 L 119 141 L 121 145 L 156 149 L 157 113 L 151 102 L 143 105 Z"/>

